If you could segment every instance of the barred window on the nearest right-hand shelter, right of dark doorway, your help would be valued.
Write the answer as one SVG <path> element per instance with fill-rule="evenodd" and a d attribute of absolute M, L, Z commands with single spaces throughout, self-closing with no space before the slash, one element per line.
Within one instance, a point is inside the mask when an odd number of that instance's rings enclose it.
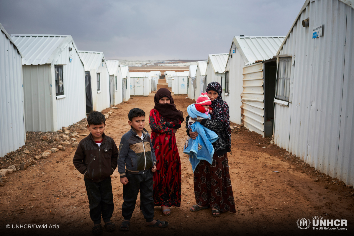
<path fill-rule="evenodd" d="M 289 102 L 291 57 L 279 59 L 276 98 Z"/>

